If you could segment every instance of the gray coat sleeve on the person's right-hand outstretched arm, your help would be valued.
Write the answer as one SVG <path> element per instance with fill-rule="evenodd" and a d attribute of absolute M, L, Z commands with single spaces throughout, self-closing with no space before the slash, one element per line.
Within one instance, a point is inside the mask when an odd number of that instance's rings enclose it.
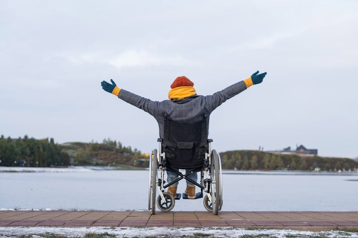
<path fill-rule="evenodd" d="M 247 86 L 244 81 L 234 83 L 233 85 L 228 86 L 221 91 L 215 92 L 212 95 L 205 96 L 205 106 L 207 107 L 208 111 L 212 112 L 223 102 L 232 98 L 233 96 L 236 96 L 237 94 L 246 89 Z"/>

